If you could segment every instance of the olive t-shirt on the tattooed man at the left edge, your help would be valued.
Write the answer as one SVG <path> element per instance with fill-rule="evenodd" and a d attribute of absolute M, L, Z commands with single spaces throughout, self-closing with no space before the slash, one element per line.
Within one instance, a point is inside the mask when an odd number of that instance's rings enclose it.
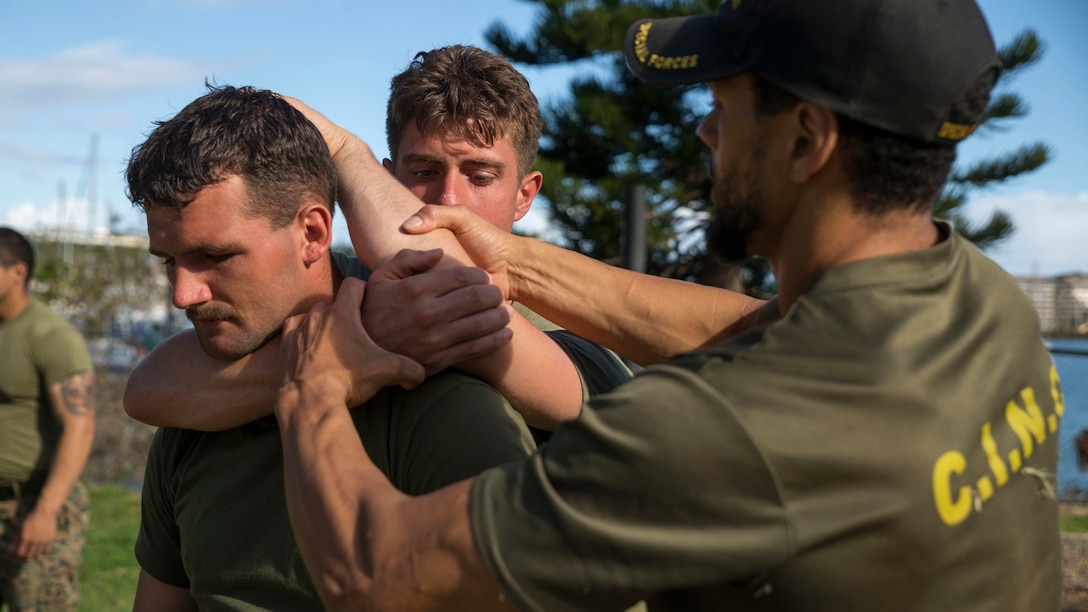
<path fill-rule="evenodd" d="M 61 433 L 48 389 L 92 367 L 79 331 L 37 299 L 0 322 L 0 481 L 48 473 Z"/>

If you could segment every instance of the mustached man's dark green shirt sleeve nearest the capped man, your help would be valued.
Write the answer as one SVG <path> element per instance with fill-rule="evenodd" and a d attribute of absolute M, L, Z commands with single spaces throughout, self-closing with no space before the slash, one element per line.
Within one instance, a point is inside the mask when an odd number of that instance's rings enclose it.
<path fill-rule="evenodd" d="M 441 489 L 535 450 L 524 419 L 490 384 L 454 372 L 425 384 L 399 408 L 408 443 L 401 461 L 392 462 L 392 479 L 406 493 Z"/>

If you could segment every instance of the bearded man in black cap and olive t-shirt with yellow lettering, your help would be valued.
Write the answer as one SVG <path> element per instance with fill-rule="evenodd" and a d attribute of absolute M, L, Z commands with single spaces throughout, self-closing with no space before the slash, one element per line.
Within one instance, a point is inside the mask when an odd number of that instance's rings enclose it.
<path fill-rule="evenodd" d="M 999 71 L 975 3 L 727 0 L 635 23 L 625 51 L 647 81 L 709 84 L 708 238 L 768 258 L 781 315 L 718 342 L 759 304 L 428 207 L 405 229 L 453 229 L 568 329 L 704 347 L 591 400 L 529 461 L 412 499 L 337 433 L 398 380 L 361 284 L 288 321 L 276 415 L 326 605 L 1058 609 L 1056 371 L 1013 280 L 931 218 Z"/>

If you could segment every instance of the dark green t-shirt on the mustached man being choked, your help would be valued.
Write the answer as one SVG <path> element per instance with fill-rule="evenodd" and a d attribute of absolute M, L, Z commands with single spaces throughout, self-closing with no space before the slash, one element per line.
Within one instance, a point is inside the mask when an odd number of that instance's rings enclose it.
<path fill-rule="evenodd" d="M 503 396 L 457 372 L 412 391 L 384 389 L 351 415 L 371 460 L 410 494 L 533 450 Z M 320 609 L 290 529 L 274 418 L 214 433 L 156 433 L 136 559 L 159 580 L 188 588 L 201 610 Z"/>

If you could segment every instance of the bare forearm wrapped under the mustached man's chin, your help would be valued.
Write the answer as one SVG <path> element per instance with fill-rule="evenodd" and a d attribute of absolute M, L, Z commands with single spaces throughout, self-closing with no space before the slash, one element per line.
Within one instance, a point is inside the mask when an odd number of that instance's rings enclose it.
<path fill-rule="evenodd" d="M 160 343 L 133 370 L 124 408 L 157 427 L 219 431 L 272 413 L 282 376 L 279 339 L 234 362 L 213 359 L 186 330 Z"/>

